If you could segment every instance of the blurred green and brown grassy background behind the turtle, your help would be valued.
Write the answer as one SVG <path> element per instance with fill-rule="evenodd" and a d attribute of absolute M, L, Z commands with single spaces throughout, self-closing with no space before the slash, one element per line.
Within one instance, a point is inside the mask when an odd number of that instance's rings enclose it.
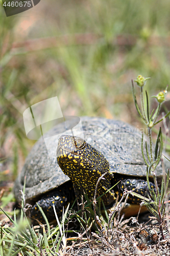
<path fill-rule="evenodd" d="M 35 142 L 22 120 L 32 104 L 58 96 L 64 115 L 140 125 L 131 79 L 152 77 L 150 96 L 168 84 L 169 8 L 168 0 L 41 0 L 6 17 L 1 3 L 1 187 L 13 182 Z"/>

